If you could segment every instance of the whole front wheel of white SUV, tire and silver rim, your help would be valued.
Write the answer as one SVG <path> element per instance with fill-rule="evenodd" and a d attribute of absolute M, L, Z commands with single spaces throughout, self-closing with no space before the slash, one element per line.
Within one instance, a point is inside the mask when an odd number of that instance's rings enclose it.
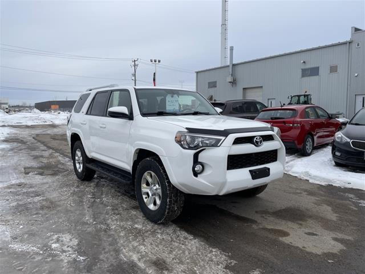
<path fill-rule="evenodd" d="M 184 193 L 170 182 L 158 157 L 149 157 L 139 163 L 135 191 L 141 211 L 156 224 L 173 220 L 183 210 Z"/>

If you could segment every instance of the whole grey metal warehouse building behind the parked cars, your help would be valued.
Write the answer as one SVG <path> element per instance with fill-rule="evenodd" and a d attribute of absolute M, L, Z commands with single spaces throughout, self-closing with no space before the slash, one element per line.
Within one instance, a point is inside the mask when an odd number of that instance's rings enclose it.
<path fill-rule="evenodd" d="M 215 100 L 257 99 L 268 106 L 308 91 L 314 104 L 349 118 L 365 106 L 365 30 L 360 28 L 351 28 L 348 41 L 230 66 L 197 71 L 196 90 Z"/>

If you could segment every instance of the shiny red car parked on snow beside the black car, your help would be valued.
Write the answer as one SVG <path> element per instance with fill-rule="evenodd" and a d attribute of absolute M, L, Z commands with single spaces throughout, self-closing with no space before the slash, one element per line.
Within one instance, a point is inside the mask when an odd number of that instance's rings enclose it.
<path fill-rule="evenodd" d="M 329 144 L 341 123 L 335 115 L 315 105 L 291 105 L 264 109 L 255 120 L 270 123 L 281 131 L 285 147 L 311 155 L 314 146 Z"/>

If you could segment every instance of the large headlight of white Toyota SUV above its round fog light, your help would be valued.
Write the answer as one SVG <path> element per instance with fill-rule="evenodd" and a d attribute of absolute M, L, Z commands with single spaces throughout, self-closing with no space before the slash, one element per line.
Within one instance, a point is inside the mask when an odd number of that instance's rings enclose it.
<path fill-rule="evenodd" d="M 177 132 L 175 136 L 175 142 L 177 142 L 177 144 L 179 144 L 184 149 L 192 150 L 220 146 L 224 139 L 226 139 L 226 137 L 202 135 L 189 132 Z"/>

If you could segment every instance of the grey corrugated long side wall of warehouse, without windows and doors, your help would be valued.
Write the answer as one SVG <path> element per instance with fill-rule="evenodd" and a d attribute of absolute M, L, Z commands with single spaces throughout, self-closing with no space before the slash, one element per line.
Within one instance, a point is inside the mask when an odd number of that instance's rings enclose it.
<path fill-rule="evenodd" d="M 314 103 L 328 112 L 346 113 L 347 43 L 318 49 L 286 54 L 277 57 L 245 62 L 233 66 L 236 84 L 226 82 L 228 67 L 197 73 L 196 89 L 205 96 L 217 100 L 242 99 L 242 90 L 247 87 L 263 88 L 263 103 L 275 98 L 288 103 L 288 96 L 304 93 L 313 95 Z M 305 61 L 304 64 L 301 61 Z M 338 73 L 331 73 L 330 65 L 338 65 Z M 301 77 L 302 68 L 319 66 L 319 76 Z M 208 81 L 217 81 L 216 88 L 208 89 Z"/>

